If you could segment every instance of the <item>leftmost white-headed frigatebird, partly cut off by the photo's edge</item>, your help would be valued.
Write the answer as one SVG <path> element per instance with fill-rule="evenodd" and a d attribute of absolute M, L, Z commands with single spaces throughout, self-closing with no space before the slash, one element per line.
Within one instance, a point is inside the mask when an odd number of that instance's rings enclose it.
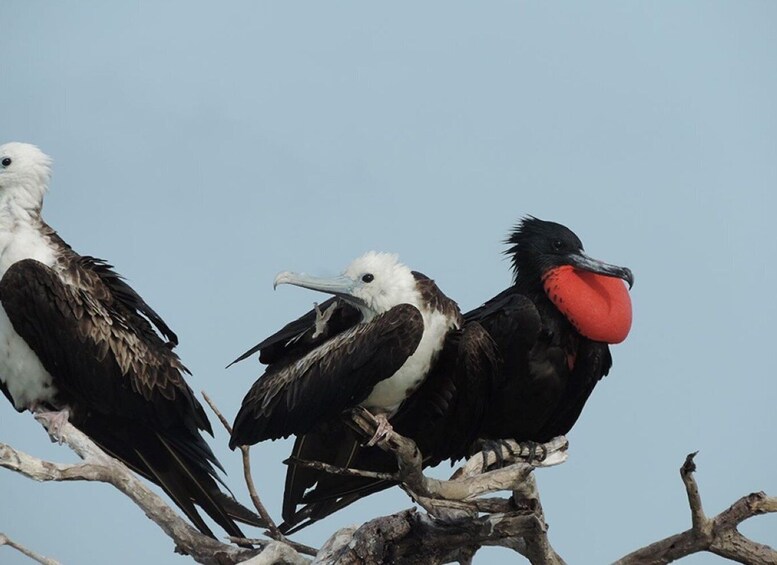
<path fill-rule="evenodd" d="M 235 520 L 264 524 L 216 482 L 221 465 L 200 434 L 211 426 L 173 351 L 178 337 L 111 265 L 46 224 L 50 176 L 34 145 L 0 146 L 0 389 L 54 436 L 69 420 L 203 533 L 213 536 L 195 504 L 244 537 Z"/>

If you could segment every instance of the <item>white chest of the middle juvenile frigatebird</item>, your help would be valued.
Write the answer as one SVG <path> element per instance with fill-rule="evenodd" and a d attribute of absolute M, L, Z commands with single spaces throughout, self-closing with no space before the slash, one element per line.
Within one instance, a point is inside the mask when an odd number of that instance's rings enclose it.
<path fill-rule="evenodd" d="M 375 385 L 362 406 L 372 412 L 393 414 L 424 382 L 452 327 L 450 319 L 440 312 L 425 314 L 424 334 L 415 352 L 396 373 Z"/>

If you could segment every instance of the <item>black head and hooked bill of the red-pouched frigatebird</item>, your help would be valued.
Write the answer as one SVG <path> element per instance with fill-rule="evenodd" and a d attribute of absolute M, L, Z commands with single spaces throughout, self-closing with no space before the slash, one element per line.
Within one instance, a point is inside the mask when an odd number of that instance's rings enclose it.
<path fill-rule="evenodd" d="M 508 237 L 511 247 L 505 252 L 512 256 L 515 281 L 541 284 L 556 267 L 564 265 L 634 284 L 630 269 L 591 259 L 583 253 L 583 242 L 575 232 L 556 222 L 533 216 L 523 218 Z"/>

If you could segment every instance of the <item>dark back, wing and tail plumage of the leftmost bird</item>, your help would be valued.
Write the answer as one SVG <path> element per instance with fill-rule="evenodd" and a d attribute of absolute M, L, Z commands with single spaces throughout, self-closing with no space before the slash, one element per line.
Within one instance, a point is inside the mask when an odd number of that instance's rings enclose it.
<path fill-rule="evenodd" d="M 213 535 L 195 504 L 230 535 L 242 537 L 235 520 L 264 525 L 216 483 L 220 465 L 200 434 L 211 426 L 172 351 L 175 334 L 109 265 L 49 236 L 58 265 L 14 263 L 0 303 L 53 379 L 50 408 L 67 407 L 76 427 L 159 484 L 203 533 Z"/>

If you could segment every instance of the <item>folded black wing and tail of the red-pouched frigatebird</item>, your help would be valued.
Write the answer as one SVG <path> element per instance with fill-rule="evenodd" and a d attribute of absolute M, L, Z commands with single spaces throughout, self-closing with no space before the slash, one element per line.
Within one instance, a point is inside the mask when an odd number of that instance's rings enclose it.
<path fill-rule="evenodd" d="M 398 433 L 415 440 L 425 466 L 459 459 L 469 453 L 480 431 L 498 363 L 496 346 L 480 324 L 473 322 L 461 331 L 449 333 L 424 384 L 391 420 Z M 396 471 L 396 459 L 391 454 L 377 447 L 359 445 L 353 431 L 340 420 L 317 428 L 315 434 L 305 442 L 298 439 L 293 455 L 337 467 Z M 394 484 L 331 475 L 292 464 L 286 474 L 283 531 L 289 534 L 298 531 Z M 304 506 L 297 510 L 300 504 Z"/>

